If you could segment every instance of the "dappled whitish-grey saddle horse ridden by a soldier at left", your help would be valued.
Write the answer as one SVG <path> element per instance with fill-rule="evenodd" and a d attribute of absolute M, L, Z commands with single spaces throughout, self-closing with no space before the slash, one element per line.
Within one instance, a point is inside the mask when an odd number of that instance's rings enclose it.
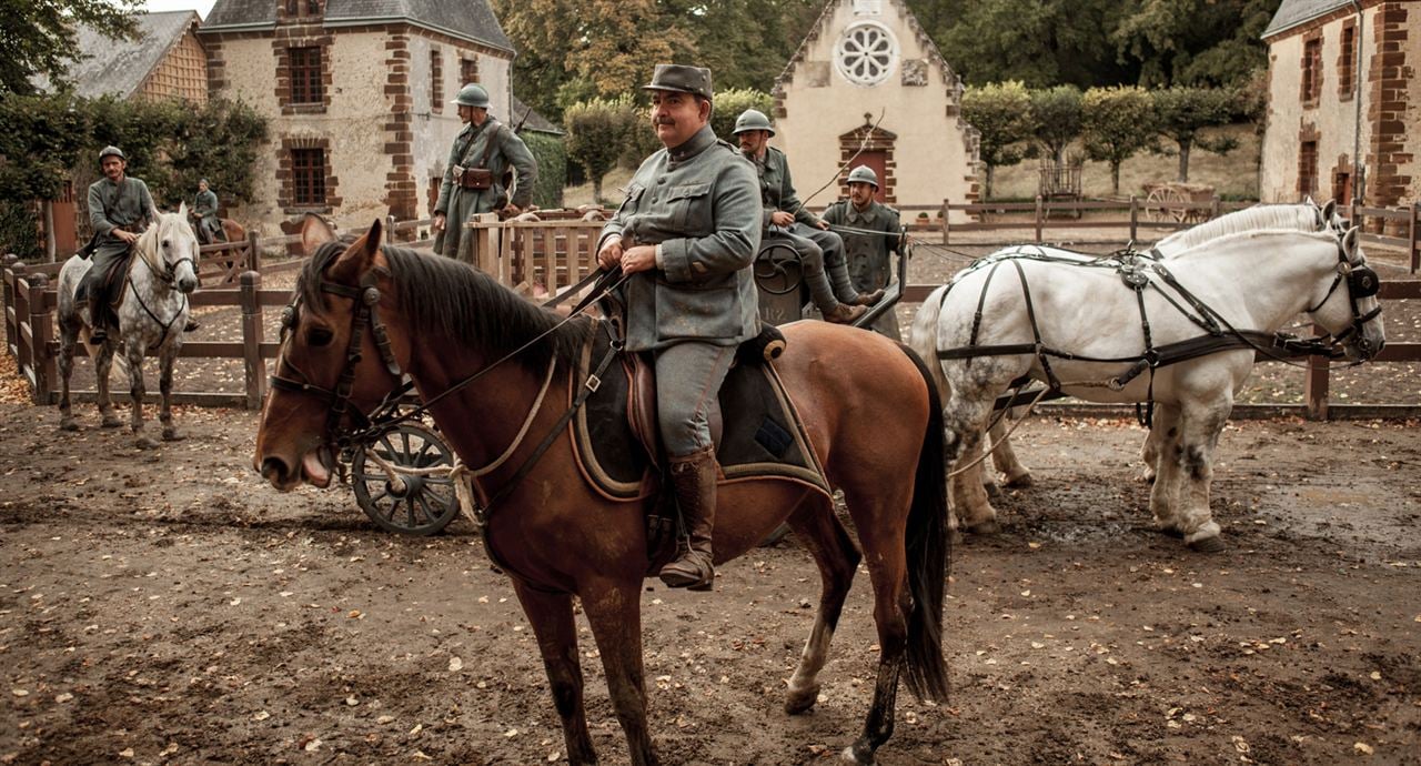
<path fill-rule="evenodd" d="M 182 436 L 173 425 L 172 392 L 173 361 L 182 348 L 182 333 L 188 324 L 188 294 L 198 288 L 198 236 L 188 223 L 188 205 L 176 213 L 153 210 L 153 225 L 134 244 L 124 279 L 122 303 L 118 307 L 118 330 L 98 348 L 94 358 L 94 377 L 98 381 L 98 412 L 104 428 L 118 428 L 122 422 L 114 414 L 108 392 L 108 374 L 114 352 L 122 347 L 128 365 L 128 391 L 134 399 L 129 425 L 139 448 L 158 446 L 144 432 L 144 357 L 158 355 L 158 391 L 162 404 L 158 421 L 163 426 L 163 441 Z M 74 290 L 88 274 L 92 261 L 71 256 L 60 270 L 58 324 L 60 324 L 60 428 L 78 431 L 70 408 L 70 375 L 74 372 L 74 348 L 80 334 L 88 337 L 92 325 L 91 313 L 75 306 Z M 102 300 L 101 297 L 91 297 Z"/>

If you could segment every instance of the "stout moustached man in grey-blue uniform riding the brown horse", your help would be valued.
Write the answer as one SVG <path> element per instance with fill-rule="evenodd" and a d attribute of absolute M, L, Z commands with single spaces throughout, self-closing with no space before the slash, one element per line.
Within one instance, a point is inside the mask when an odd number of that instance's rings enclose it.
<path fill-rule="evenodd" d="M 661 439 L 689 533 L 689 550 L 661 580 L 709 590 L 718 473 L 709 414 L 736 347 L 759 331 L 750 263 L 760 193 L 753 166 L 710 129 L 710 70 L 658 64 L 645 90 L 665 148 L 632 176 L 597 260 L 631 276 L 627 350 L 655 358 Z"/>

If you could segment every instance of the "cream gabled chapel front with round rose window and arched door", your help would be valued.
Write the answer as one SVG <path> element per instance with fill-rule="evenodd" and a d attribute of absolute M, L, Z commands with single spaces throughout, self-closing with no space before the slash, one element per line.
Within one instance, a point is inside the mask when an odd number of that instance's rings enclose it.
<path fill-rule="evenodd" d="M 979 134 L 961 98 L 962 81 L 904 0 L 830 0 L 774 84 L 773 142 L 801 199 L 830 183 L 811 207 L 847 196 L 838 171 L 855 153 L 851 166 L 878 173 L 881 202 L 975 202 Z"/>

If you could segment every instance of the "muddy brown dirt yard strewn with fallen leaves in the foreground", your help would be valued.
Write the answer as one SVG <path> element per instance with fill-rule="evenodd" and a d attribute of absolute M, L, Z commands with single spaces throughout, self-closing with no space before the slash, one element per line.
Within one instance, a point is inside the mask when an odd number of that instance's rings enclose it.
<path fill-rule="evenodd" d="M 0 405 L 0 762 L 564 760 L 530 630 L 468 522 L 377 532 L 348 489 L 264 486 L 253 414 L 179 425 L 188 441 L 138 452 Z M 1140 429 L 1029 422 L 1037 485 L 999 499 L 1002 534 L 953 551 L 952 698 L 899 695 L 881 763 L 1421 762 L 1415 425 L 1231 425 L 1229 550 L 1205 556 L 1148 530 Z M 793 536 L 713 594 L 648 583 L 666 763 L 820 763 L 854 739 L 867 574 L 818 706 L 780 712 L 817 583 Z M 593 735 L 625 763 L 584 638 Z"/>

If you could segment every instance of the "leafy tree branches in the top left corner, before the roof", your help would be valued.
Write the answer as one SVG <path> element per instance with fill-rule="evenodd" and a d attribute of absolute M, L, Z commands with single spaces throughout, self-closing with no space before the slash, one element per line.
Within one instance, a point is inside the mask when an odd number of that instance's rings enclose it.
<path fill-rule="evenodd" d="M 34 95 L 31 78 L 43 75 L 51 87 L 67 85 L 65 70 L 84 55 L 75 28 L 87 24 L 114 40 L 138 34 L 138 0 L 10 0 L 0 24 L 0 95 Z"/>

